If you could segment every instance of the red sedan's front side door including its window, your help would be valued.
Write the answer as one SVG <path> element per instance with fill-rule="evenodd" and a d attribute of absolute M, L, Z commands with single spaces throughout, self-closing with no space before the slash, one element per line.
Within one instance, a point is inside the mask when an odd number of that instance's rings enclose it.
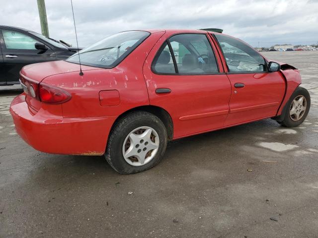
<path fill-rule="evenodd" d="M 266 60 L 244 42 L 215 34 L 232 85 L 230 113 L 225 126 L 273 117 L 285 93 L 280 72 L 268 72 Z"/>

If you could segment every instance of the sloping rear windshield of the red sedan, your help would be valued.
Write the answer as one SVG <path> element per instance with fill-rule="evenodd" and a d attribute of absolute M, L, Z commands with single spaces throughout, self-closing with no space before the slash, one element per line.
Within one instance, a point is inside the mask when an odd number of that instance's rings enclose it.
<path fill-rule="evenodd" d="M 83 65 L 112 68 L 125 59 L 148 36 L 146 31 L 125 31 L 109 36 L 87 47 L 66 61 Z"/>

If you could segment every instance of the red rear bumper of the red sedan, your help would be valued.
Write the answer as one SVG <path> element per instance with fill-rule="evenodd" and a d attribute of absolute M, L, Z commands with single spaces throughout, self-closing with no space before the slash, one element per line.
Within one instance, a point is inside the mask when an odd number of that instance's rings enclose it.
<path fill-rule="evenodd" d="M 31 114 L 21 94 L 10 106 L 15 129 L 34 149 L 53 154 L 103 155 L 116 117 L 63 118 L 40 109 Z"/>

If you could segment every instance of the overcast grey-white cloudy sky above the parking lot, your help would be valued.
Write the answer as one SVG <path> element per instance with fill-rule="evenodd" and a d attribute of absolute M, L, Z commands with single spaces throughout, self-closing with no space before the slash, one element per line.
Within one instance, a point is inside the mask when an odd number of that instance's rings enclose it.
<path fill-rule="evenodd" d="M 50 37 L 76 45 L 71 0 L 46 0 Z M 36 0 L 0 0 L 0 25 L 41 33 Z M 136 29 L 221 28 L 252 46 L 317 44 L 318 0 L 73 0 L 79 46 Z"/>

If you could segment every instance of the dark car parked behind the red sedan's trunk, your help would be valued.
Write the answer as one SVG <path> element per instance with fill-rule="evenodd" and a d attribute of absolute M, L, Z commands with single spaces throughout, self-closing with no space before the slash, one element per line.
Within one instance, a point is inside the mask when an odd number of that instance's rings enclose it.
<path fill-rule="evenodd" d="M 26 29 L 0 25 L 0 85 L 19 83 L 19 71 L 26 65 L 65 60 L 77 48 Z"/>

